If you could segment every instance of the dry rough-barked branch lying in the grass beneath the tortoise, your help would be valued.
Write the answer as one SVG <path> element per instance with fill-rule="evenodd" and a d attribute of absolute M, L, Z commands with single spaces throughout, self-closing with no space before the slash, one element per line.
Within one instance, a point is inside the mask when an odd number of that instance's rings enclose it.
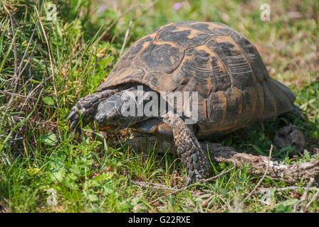
<path fill-rule="evenodd" d="M 176 153 L 176 148 L 172 140 L 158 139 L 155 136 L 149 136 L 147 139 L 139 134 L 133 134 L 133 137 L 127 140 L 127 145 L 132 145 L 137 150 L 156 148 L 161 153 Z M 267 177 L 294 184 L 302 180 L 309 180 L 312 177 L 319 176 L 319 160 L 310 162 L 301 162 L 300 164 L 281 165 L 278 162 L 271 161 L 268 157 L 261 155 L 251 155 L 238 153 L 234 148 L 222 146 L 217 143 L 201 142 L 202 148 L 209 151 L 209 156 L 213 162 L 227 162 L 236 167 L 249 167 L 247 171 L 251 175 L 262 176 L 267 172 Z M 269 167 L 268 167 L 269 165 Z M 268 167 L 268 170 L 267 170 Z M 267 170 L 267 171 L 266 171 Z"/>

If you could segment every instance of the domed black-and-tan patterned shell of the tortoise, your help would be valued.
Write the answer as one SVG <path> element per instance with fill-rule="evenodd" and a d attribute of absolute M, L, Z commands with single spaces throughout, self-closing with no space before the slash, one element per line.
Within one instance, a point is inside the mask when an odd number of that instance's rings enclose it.
<path fill-rule="evenodd" d="M 130 82 L 157 92 L 199 92 L 199 138 L 278 116 L 295 100 L 268 76 L 251 42 L 222 23 L 157 28 L 126 50 L 97 91 Z"/>

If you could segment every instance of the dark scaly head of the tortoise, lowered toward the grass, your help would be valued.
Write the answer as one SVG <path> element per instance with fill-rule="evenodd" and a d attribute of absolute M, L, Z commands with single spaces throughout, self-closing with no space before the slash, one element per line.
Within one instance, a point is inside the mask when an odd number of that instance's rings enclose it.
<path fill-rule="evenodd" d="M 141 110 L 145 105 L 145 95 L 152 91 L 149 87 L 142 85 L 123 89 L 116 92 L 108 99 L 101 101 L 95 122 L 101 130 L 117 131 L 128 128 L 149 118 Z M 146 100 L 147 101 L 147 100 Z"/>

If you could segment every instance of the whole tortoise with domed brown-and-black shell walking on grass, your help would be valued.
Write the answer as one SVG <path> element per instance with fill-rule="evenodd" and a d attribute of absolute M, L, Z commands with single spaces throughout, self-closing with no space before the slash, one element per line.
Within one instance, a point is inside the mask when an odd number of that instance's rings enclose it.
<path fill-rule="evenodd" d="M 136 100 L 148 92 L 160 100 L 174 92 L 189 96 L 182 102 L 164 98 L 170 109 L 157 116 L 122 113 L 127 103 L 145 107 L 144 99 Z M 192 110 L 198 116 L 187 123 L 190 92 L 197 94 Z M 95 121 L 102 131 L 134 128 L 173 137 L 189 184 L 206 178 L 211 167 L 199 140 L 276 117 L 290 111 L 295 99 L 286 85 L 269 77 L 244 35 L 223 23 L 183 21 L 157 28 L 130 46 L 105 82 L 70 109 L 68 120 L 71 130 L 81 120 L 82 126 Z"/>

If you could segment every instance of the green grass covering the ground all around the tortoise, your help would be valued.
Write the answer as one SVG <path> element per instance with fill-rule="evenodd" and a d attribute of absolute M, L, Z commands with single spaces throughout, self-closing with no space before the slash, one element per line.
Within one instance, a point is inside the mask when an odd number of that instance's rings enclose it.
<path fill-rule="evenodd" d="M 318 2 L 189 0 L 182 1 L 182 9 L 174 11 L 175 2 L 121 1 L 118 7 L 104 7 L 93 0 L 53 1 L 58 14 L 56 21 L 50 21 L 46 12 L 50 2 L 0 1 L 0 211 L 293 210 L 303 190 L 274 190 L 305 187 L 305 182 L 288 185 L 266 177 L 261 187 L 271 189 L 269 206 L 261 203 L 262 194 L 253 194 L 241 204 L 260 179 L 247 173 L 249 167 L 236 168 L 211 182 L 177 193 L 141 187 L 129 179 L 182 187 L 186 171 L 174 155 L 156 153 L 152 147 L 135 150 L 113 142 L 110 135 L 98 133 L 94 124 L 85 126 L 78 137 L 68 131 L 70 107 L 80 97 L 94 92 L 112 70 L 130 21 L 125 49 L 166 23 L 216 21 L 243 33 L 256 45 L 271 77 L 293 90 L 296 104 L 307 118 L 303 122 L 292 117 L 292 123 L 305 135 L 304 153 L 291 158 L 288 152 L 293 148 L 274 148 L 273 159 L 291 164 L 318 158 Z M 263 3 L 271 5 L 271 21 L 259 18 Z M 137 4 L 142 6 L 120 17 Z M 289 13 L 296 11 L 298 18 Z M 107 28 L 108 34 L 101 37 Z M 276 131 L 288 123 L 286 118 L 278 117 L 211 138 L 211 142 L 244 153 L 268 155 Z M 226 163 L 215 163 L 213 173 L 229 168 L 231 165 Z M 313 194 L 310 192 L 309 197 Z M 307 211 L 318 212 L 318 201 Z"/>

